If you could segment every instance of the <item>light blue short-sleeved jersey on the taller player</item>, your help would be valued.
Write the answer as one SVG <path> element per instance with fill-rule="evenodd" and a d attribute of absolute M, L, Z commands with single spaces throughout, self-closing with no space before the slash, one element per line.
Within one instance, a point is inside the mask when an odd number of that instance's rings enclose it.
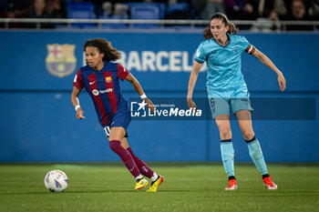
<path fill-rule="evenodd" d="M 214 93 L 224 93 L 238 89 L 247 89 L 242 76 L 242 52 L 253 47 L 245 37 L 230 35 L 229 43 L 222 46 L 214 38 L 201 42 L 195 54 L 195 60 L 199 63 L 207 63 L 207 91 L 209 97 Z M 248 92 L 248 91 L 247 91 Z M 249 96 L 249 95 L 248 95 Z M 248 97 L 247 96 L 247 97 Z"/>

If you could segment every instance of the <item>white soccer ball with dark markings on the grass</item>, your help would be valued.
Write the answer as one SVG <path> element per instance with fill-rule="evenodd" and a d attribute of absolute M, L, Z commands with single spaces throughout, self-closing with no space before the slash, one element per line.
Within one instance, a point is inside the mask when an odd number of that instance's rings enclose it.
<path fill-rule="evenodd" d="M 61 170 L 51 170 L 46 174 L 45 186 L 50 192 L 61 192 L 67 188 L 67 175 Z"/>

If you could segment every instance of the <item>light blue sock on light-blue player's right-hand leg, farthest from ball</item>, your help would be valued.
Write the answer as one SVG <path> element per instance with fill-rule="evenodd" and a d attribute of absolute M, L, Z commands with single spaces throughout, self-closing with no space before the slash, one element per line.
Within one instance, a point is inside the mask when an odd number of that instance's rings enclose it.
<path fill-rule="evenodd" d="M 267 175 L 268 170 L 262 156 L 262 147 L 259 144 L 257 138 L 253 136 L 251 140 L 246 140 L 246 143 L 249 149 L 249 155 L 252 157 L 253 163 L 256 165 L 262 175 Z"/>

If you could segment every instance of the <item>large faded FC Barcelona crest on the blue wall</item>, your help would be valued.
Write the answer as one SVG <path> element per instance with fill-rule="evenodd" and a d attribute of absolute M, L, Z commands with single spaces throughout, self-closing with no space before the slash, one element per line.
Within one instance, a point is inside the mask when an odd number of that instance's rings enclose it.
<path fill-rule="evenodd" d="M 77 58 L 74 54 L 76 45 L 46 45 L 46 69 L 53 75 L 65 77 L 71 75 L 77 66 Z"/>

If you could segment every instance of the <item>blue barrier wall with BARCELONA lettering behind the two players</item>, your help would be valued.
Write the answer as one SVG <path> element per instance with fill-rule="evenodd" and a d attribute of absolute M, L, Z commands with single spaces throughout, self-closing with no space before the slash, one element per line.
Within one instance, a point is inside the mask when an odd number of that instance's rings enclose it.
<path fill-rule="evenodd" d="M 288 83 L 287 90 L 281 93 L 272 71 L 253 56 L 243 55 L 242 72 L 252 97 L 318 100 L 319 35 L 245 36 L 273 60 Z M 79 97 L 86 119 L 78 121 L 70 104 L 73 78 L 83 65 L 82 46 L 93 37 L 108 39 L 123 53 L 120 62 L 139 79 L 148 96 L 186 96 L 192 56 L 203 40 L 200 33 L 2 31 L 0 161 L 118 160 L 108 148 L 87 93 L 83 91 Z M 72 58 L 68 62 L 77 68 L 54 64 L 67 60 L 64 56 Z M 194 96 L 206 96 L 205 77 L 206 73 L 201 72 Z M 122 83 L 122 90 L 127 99 L 138 96 L 128 82 Z M 303 110 L 307 108 L 299 112 Z M 253 127 L 267 161 L 319 161 L 317 115 L 314 120 L 255 120 Z M 235 121 L 232 135 L 236 160 L 250 161 Z M 129 143 L 137 155 L 148 161 L 221 160 L 219 133 L 211 120 L 133 120 Z"/>

